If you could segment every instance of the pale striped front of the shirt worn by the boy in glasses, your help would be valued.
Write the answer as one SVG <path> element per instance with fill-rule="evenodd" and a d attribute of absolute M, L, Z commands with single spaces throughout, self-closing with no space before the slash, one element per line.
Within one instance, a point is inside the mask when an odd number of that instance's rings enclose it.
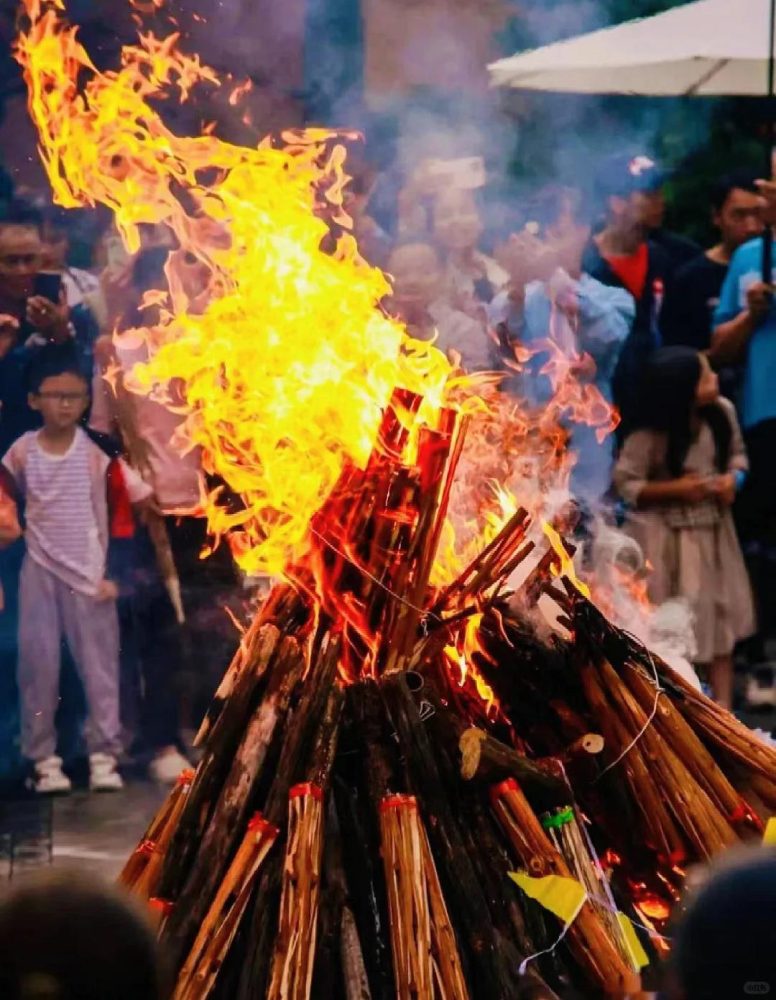
<path fill-rule="evenodd" d="M 95 446 L 80 427 L 64 455 L 50 455 L 32 437 L 24 469 L 27 552 L 74 590 L 93 595 L 106 558 L 89 461 Z"/>

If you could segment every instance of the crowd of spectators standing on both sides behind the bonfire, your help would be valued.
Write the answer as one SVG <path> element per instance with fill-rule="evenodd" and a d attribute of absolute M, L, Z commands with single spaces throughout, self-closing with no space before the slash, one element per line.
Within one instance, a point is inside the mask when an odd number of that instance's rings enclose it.
<path fill-rule="evenodd" d="M 413 337 L 467 371 L 503 371 L 502 391 L 537 412 L 552 393 L 550 339 L 617 407 L 604 442 L 569 419 L 573 497 L 639 541 L 656 602 L 689 602 L 697 663 L 730 705 L 734 649 L 749 640 L 749 661 L 762 661 L 773 618 L 776 309 L 761 268 L 773 186 L 721 178 L 709 192 L 719 240 L 704 251 L 665 229 L 666 177 L 645 156 L 606 159 L 592 192 L 548 185 L 503 206 L 498 234 L 483 222 L 477 161 L 421 164 L 379 222 L 377 180 L 357 171 L 346 208 L 364 257 L 393 278 L 384 307 Z M 68 662 L 85 692 L 91 787 L 120 788 L 128 754 L 174 780 L 236 642 L 223 606 L 240 586 L 226 547 L 200 558 L 202 470 L 172 444 L 180 417 L 103 377 L 143 360 L 139 342 L 110 333 L 153 322 L 143 293 L 182 251 L 149 228 L 129 256 L 107 226 L 92 266 L 77 268 L 71 229 L 70 213 L 23 199 L 0 210 L 3 700 L 7 714 L 18 698 L 39 792 L 71 784 L 73 746 L 57 734 Z M 199 264 L 185 263 L 192 308 L 204 308 Z M 159 520 L 185 629 L 154 558 Z"/>

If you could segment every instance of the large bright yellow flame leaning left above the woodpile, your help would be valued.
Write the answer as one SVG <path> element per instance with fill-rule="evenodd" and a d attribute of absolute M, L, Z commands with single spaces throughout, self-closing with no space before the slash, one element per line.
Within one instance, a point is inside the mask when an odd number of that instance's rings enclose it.
<path fill-rule="evenodd" d="M 177 136 L 149 99 L 184 101 L 217 82 L 177 36 L 141 35 L 101 73 L 61 0 L 24 5 L 16 55 L 55 199 L 109 206 L 132 252 L 145 223 L 168 227 L 181 251 L 168 260 L 158 326 L 130 334 L 150 351 L 130 386 L 172 405 L 175 380 L 181 447 L 200 446 L 206 471 L 244 504 L 227 511 L 212 495 L 211 530 L 237 530 L 246 570 L 280 573 L 345 463 L 364 463 L 393 388 L 422 394 L 433 424 L 451 366 L 380 311 L 388 283 L 350 236 L 321 250 L 321 215 L 347 221 L 344 149 L 328 132 L 258 149 Z M 183 253 L 201 265 L 195 287 Z"/>

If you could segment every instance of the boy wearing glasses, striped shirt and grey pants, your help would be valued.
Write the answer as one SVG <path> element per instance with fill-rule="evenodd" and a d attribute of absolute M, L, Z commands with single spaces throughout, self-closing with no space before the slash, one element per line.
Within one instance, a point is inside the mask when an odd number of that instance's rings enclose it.
<path fill-rule="evenodd" d="M 29 403 L 43 427 L 24 434 L 3 458 L 26 515 L 19 588 L 22 753 L 34 764 L 37 792 L 70 791 L 55 752 L 64 636 L 86 693 L 89 785 L 93 791 L 114 791 L 122 780 L 115 758 L 117 589 L 106 578 L 108 490 L 139 502 L 150 488 L 126 465 L 111 462 L 79 426 L 89 389 L 72 352 L 56 347 L 42 352 L 32 371 Z"/>

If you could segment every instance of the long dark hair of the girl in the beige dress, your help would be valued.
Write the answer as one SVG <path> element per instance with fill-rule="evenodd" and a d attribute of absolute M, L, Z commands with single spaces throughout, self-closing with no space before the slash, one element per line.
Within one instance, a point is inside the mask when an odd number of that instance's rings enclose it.
<path fill-rule="evenodd" d="M 695 393 L 701 377 L 701 359 L 691 347 L 662 347 L 650 358 L 644 378 L 641 427 L 662 431 L 668 438 L 666 464 L 675 478 L 684 475 L 692 443 Z M 697 411 L 714 435 L 715 464 L 727 472 L 733 428 L 719 403 Z"/>

